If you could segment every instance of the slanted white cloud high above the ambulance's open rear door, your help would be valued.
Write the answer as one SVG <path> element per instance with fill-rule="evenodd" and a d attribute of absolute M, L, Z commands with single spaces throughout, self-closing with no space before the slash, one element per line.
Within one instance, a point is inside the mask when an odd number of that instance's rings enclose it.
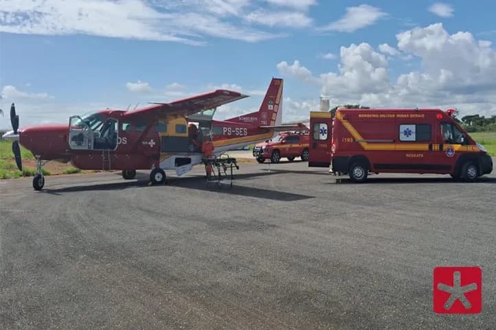
<path fill-rule="evenodd" d="M 338 21 L 332 22 L 325 27 L 320 28 L 322 31 L 337 31 L 337 32 L 354 32 L 363 27 L 374 24 L 381 17 L 387 14 L 379 8 L 372 5 L 359 5 L 357 7 L 346 8 L 344 14 Z"/>

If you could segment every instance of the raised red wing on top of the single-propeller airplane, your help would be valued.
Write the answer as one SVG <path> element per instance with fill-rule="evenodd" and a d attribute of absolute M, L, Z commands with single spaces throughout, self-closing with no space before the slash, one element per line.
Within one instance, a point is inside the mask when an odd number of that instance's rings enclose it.
<path fill-rule="evenodd" d="M 141 108 L 126 113 L 128 115 L 183 115 L 189 116 L 203 110 L 217 108 L 223 104 L 244 99 L 248 95 L 243 95 L 234 91 L 217 89 L 216 91 L 195 95 L 186 99 L 179 99 L 169 103 L 153 103 L 152 106 Z"/>

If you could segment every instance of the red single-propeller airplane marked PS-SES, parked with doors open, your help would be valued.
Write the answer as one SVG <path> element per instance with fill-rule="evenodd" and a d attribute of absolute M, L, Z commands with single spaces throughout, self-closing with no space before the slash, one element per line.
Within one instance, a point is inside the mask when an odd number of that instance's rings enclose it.
<path fill-rule="evenodd" d="M 170 103 L 155 103 L 131 111 L 100 110 L 72 116 L 69 125 L 30 126 L 19 129 L 14 104 L 10 108 L 12 131 L 3 139 L 14 141 L 12 152 L 22 170 L 19 143 L 36 158 L 33 187 L 43 189 L 41 171 L 47 161 L 71 162 L 80 169 L 122 170 L 133 179 L 137 169 L 151 169 L 150 182 L 164 183 L 164 169 L 180 176 L 202 163 L 204 141 L 212 141 L 215 156 L 227 150 L 271 139 L 282 126 L 283 80 L 273 78 L 260 110 L 217 121 L 216 108 L 243 99 L 234 91 L 216 90 Z"/>

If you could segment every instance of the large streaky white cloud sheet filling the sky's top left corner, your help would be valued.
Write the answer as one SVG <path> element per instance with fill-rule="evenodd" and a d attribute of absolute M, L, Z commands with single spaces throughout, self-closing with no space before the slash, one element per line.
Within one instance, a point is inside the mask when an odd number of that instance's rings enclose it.
<path fill-rule="evenodd" d="M 0 0 L 0 32 L 89 34 L 192 45 L 203 45 L 205 36 L 247 42 L 277 37 L 223 19 L 240 15 L 248 4 L 248 0 Z"/>

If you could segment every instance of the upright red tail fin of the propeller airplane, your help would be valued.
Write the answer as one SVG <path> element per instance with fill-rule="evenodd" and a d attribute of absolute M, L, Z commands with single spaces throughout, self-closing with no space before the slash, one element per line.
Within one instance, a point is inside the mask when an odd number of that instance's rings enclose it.
<path fill-rule="evenodd" d="M 236 123 L 246 123 L 250 126 L 278 126 L 282 123 L 282 88 L 281 78 L 272 78 L 269 89 L 265 94 L 262 105 L 256 113 L 249 113 L 227 119 Z"/>

